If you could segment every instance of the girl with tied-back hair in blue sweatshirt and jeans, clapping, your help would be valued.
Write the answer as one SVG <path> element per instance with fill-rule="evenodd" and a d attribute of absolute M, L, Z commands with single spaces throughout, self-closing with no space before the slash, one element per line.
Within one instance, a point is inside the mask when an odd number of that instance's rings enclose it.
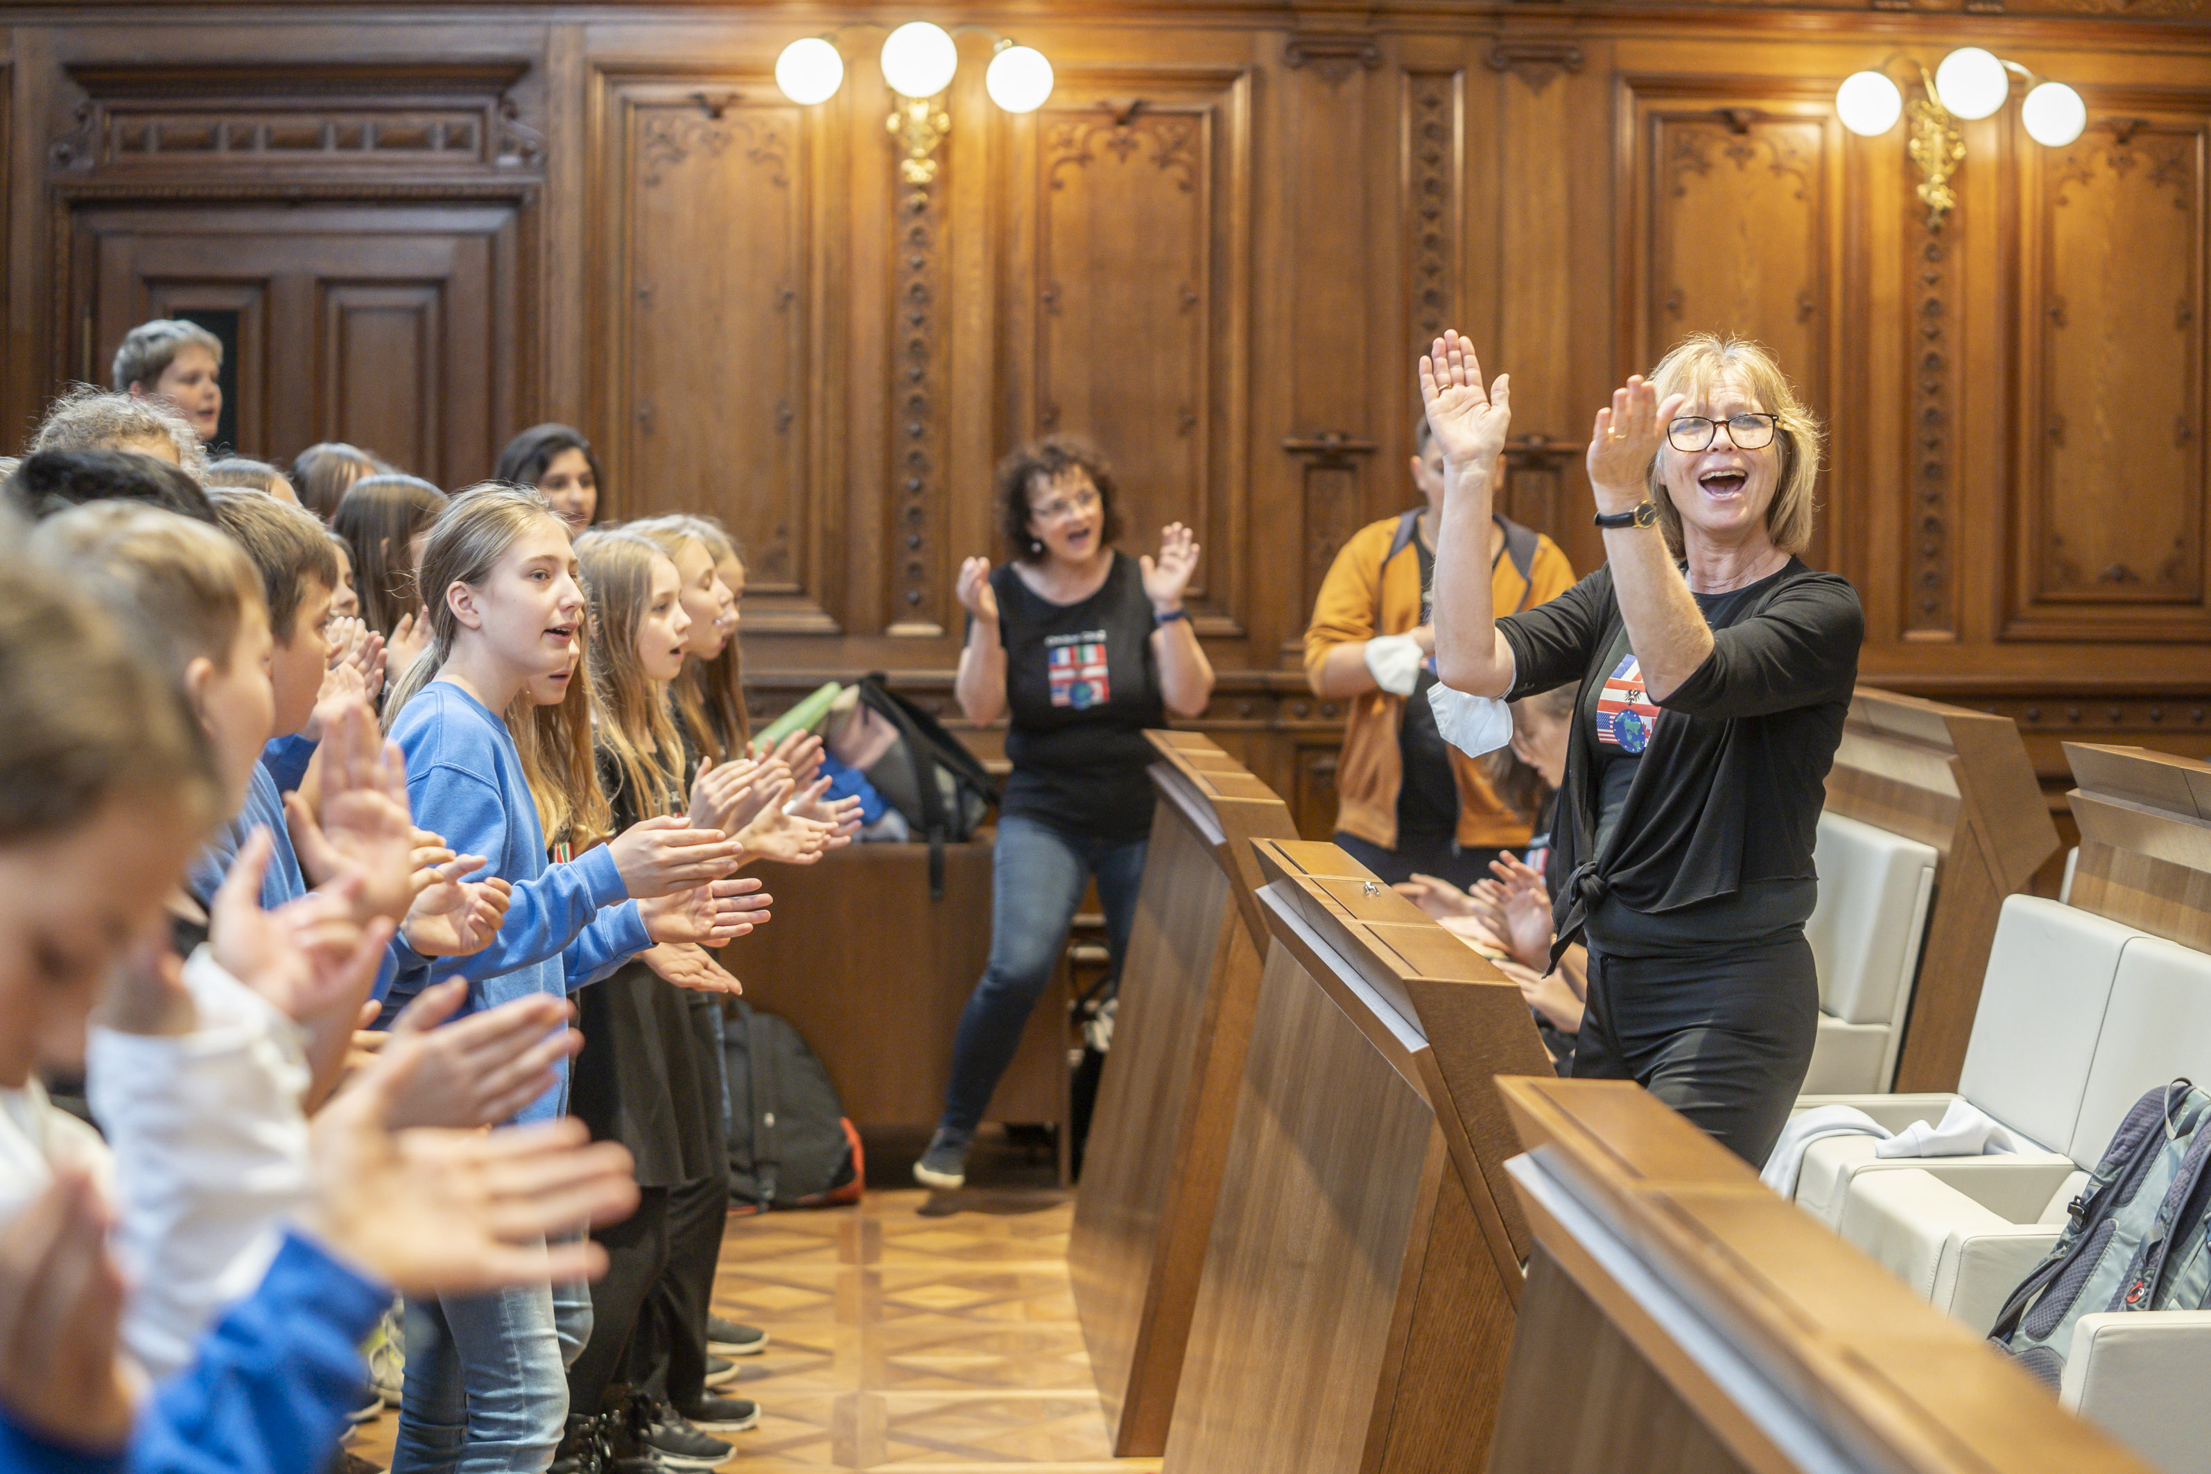
<path fill-rule="evenodd" d="M 517 698 L 553 705 L 575 681 L 584 632 L 568 528 L 535 491 L 480 486 L 453 499 L 422 548 L 429 650 L 387 703 L 407 758 L 416 822 L 486 855 L 513 886 L 491 946 L 436 977 L 469 979 L 475 1008 L 526 992 L 566 994 L 654 941 L 734 935 L 727 882 L 738 849 L 683 818 L 635 824 L 568 864 L 546 862 L 528 773 L 500 718 Z M 716 884 L 719 882 L 719 884 Z M 716 895 L 719 893 L 719 895 Z M 639 897 L 639 899 L 632 899 Z M 431 981 L 402 957 L 394 999 Z M 522 1112 L 562 1114 L 566 1076 Z M 394 1474 L 537 1474 L 562 1436 L 568 1388 L 551 1284 L 484 1297 L 407 1302 L 407 1390 Z"/>

